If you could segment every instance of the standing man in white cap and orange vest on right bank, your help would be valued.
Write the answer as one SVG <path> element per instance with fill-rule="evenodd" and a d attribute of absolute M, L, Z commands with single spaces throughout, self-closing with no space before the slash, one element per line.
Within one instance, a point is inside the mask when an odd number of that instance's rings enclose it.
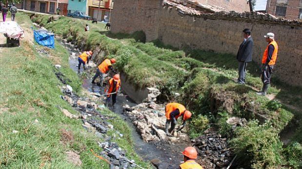
<path fill-rule="evenodd" d="M 262 91 L 258 92 L 259 95 L 266 95 L 270 84 L 271 75 L 276 64 L 278 55 L 278 44 L 275 41 L 275 35 L 273 33 L 267 33 L 264 36 L 268 45 L 262 56 L 262 75 L 263 82 Z"/>

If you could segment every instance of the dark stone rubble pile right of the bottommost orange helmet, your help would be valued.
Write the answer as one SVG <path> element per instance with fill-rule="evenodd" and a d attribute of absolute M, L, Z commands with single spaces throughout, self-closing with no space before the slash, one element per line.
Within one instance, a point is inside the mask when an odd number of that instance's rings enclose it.
<path fill-rule="evenodd" d="M 194 146 L 200 157 L 198 162 L 210 169 L 221 169 L 232 160 L 232 153 L 226 138 L 222 138 L 220 134 L 215 132 L 201 135 L 195 139 Z"/>

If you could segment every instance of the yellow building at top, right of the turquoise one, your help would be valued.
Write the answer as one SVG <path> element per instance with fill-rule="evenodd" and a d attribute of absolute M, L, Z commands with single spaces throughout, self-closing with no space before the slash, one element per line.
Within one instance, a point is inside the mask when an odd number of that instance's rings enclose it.
<path fill-rule="evenodd" d="M 100 4 L 100 11 L 99 11 Z M 106 14 L 109 17 L 110 9 L 112 9 L 113 3 L 112 0 L 88 0 L 88 15 L 92 18 L 95 18 L 99 21 L 103 20 L 104 15 Z M 98 16 L 99 12 L 99 16 Z"/>

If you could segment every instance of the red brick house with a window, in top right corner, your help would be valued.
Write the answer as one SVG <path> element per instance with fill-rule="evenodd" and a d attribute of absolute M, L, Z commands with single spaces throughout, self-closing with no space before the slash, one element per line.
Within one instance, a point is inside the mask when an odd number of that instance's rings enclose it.
<path fill-rule="evenodd" d="M 285 19 L 302 19 L 302 0 L 267 0 L 266 12 Z"/>

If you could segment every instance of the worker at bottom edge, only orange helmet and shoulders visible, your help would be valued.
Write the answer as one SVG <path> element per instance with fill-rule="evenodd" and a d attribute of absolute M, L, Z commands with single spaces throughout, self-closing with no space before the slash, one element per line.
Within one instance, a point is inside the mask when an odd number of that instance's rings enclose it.
<path fill-rule="evenodd" d="M 197 151 L 194 147 L 187 147 L 182 152 L 183 161 L 180 165 L 180 169 L 203 169 L 195 159 L 197 159 Z"/>

